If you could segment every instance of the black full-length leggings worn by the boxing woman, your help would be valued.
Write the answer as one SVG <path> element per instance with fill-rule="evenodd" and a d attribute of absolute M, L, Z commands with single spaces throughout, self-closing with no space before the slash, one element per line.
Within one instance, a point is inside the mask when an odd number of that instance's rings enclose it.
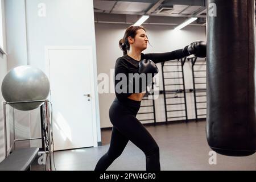
<path fill-rule="evenodd" d="M 94 170 L 105 171 L 122 154 L 130 140 L 146 155 L 146 170 L 160 171 L 158 144 L 136 118 L 140 106 L 140 101 L 127 99 L 119 102 L 115 98 L 109 109 L 109 118 L 113 124 L 109 150 L 101 157 Z"/>

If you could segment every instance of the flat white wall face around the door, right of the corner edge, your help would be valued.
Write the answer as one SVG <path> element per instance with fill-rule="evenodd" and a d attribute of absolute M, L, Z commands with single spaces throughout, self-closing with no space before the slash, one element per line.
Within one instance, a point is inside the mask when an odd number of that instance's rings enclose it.
<path fill-rule="evenodd" d="M 39 3 L 46 5 L 45 17 L 38 16 Z M 29 65 L 45 71 L 45 46 L 92 46 L 93 60 L 96 63 L 93 1 L 27 0 L 26 17 Z M 97 83 L 97 65 L 93 66 L 94 82 Z M 98 94 L 97 88 L 95 89 L 96 108 L 94 111 L 96 111 L 97 123 L 100 125 Z M 38 116 L 39 114 L 34 114 L 32 118 L 39 118 Z M 100 130 L 98 135 L 100 136 Z M 101 141 L 100 137 L 98 141 Z"/>

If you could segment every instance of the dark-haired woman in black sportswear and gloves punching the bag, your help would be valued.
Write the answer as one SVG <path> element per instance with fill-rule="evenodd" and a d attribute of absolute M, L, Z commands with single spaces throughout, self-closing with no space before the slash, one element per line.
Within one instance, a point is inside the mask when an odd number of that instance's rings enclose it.
<path fill-rule="evenodd" d="M 133 83 L 130 83 L 134 80 L 129 79 L 129 73 L 154 74 L 158 72 L 155 63 L 176 60 L 191 54 L 205 57 L 206 52 L 204 42 L 194 42 L 184 49 L 172 52 L 144 54 L 142 51 L 147 48 L 147 43 L 146 30 L 142 26 L 130 26 L 125 31 L 123 39 L 119 41 L 123 56 L 119 57 L 115 63 L 116 98 L 109 109 L 110 121 L 113 124 L 112 137 L 109 150 L 98 161 L 96 171 L 106 170 L 122 154 L 129 140 L 146 155 L 146 170 L 160 171 L 158 144 L 136 118 L 145 88 L 140 88 L 139 93 L 132 89 L 133 92 L 130 93 L 129 87 L 133 86 Z M 125 86 L 118 87 L 118 74 L 126 75 L 128 81 Z M 119 90 L 127 92 L 120 93 Z"/>

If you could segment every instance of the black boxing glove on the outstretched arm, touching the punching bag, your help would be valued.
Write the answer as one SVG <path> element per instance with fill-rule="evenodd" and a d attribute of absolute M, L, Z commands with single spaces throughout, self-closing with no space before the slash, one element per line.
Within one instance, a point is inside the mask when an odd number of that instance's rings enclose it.
<path fill-rule="evenodd" d="M 206 43 L 204 41 L 193 42 L 186 46 L 184 49 L 187 49 L 189 55 L 195 55 L 196 57 L 206 57 Z"/>

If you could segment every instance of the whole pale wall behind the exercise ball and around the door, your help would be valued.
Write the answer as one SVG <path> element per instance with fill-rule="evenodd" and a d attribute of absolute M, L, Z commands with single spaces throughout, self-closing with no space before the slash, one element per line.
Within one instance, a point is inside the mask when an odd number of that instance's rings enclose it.
<path fill-rule="evenodd" d="M 83 0 L 7 0 L 6 30 L 8 70 L 18 65 L 32 65 L 46 71 L 45 46 L 92 46 L 98 142 L 100 138 L 100 114 L 97 94 L 96 41 L 94 35 L 93 1 Z M 42 6 L 46 5 L 46 16 Z M 43 10 L 44 11 L 44 10 Z M 61 65 L 60 65 L 61 67 Z M 71 106 L 72 107 L 72 106 Z M 54 108 L 53 108 L 54 109 Z M 40 137 L 40 109 L 29 112 L 15 111 L 20 129 L 19 137 Z M 37 144 L 40 142 L 32 141 Z"/>

